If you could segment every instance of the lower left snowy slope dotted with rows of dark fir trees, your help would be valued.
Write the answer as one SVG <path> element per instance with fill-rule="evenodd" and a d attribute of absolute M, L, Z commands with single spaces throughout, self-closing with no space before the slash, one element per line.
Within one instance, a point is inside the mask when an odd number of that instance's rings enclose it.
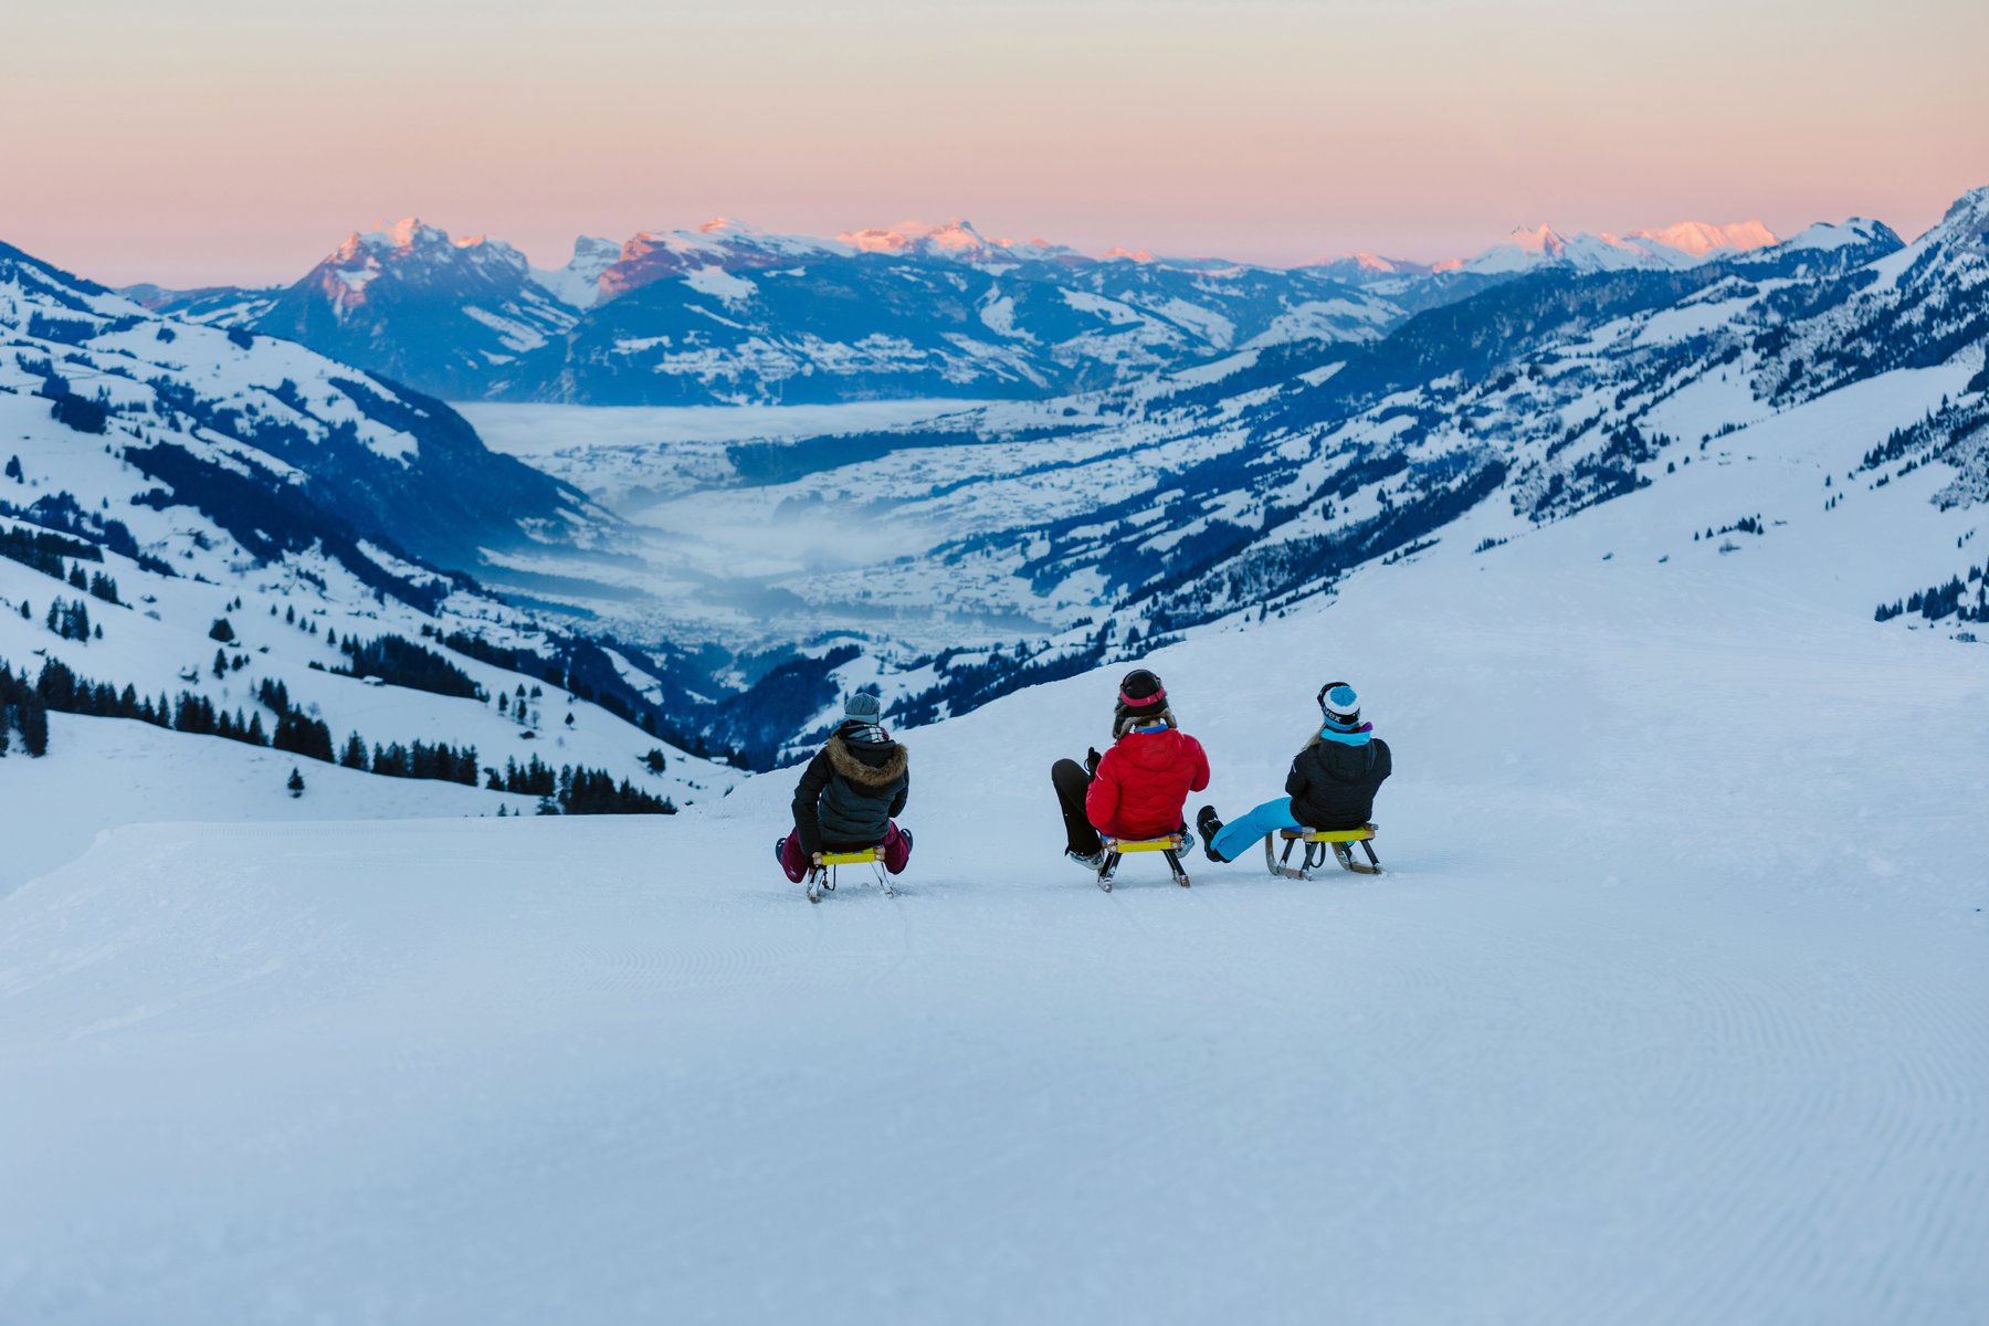
<path fill-rule="evenodd" d="M 414 606 L 320 553 L 261 561 L 183 521 L 193 561 L 167 563 L 159 545 L 137 561 L 56 539 L 64 551 L 48 569 L 18 561 L 12 541 L 50 535 L 0 517 L 0 668 L 26 684 L 8 696 L 0 678 L 0 803 L 18 831 L 0 893 L 119 823 L 535 813 L 541 795 L 571 805 L 563 767 L 605 771 L 670 805 L 722 795 L 736 779 L 656 736 L 648 678 L 631 668 L 631 690 L 603 650 L 527 612 L 428 579 L 436 594 Z M 88 632 L 68 628 L 78 608 Z M 378 640 L 400 642 L 412 664 L 348 648 Z M 436 674 L 446 674 L 440 684 Z M 74 698 L 78 686 L 97 694 Z M 189 716 L 189 700 L 205 718 Z M 46 712 L 44 755 L 28 744 L 22 704 Z M 296 730 L 286 732 L 286 714 Z M 322 726 L 320 744 L 308 726 Z M 448 747 L 455 763 L 416 769 L 380 755 L 416 746 Z M 511 765 L 535 761 L 555 781 L 525 793 Z M 304 777 L 300 797 L 284 785 L 290 769 Z M 491 777 L 509 791 L 491 789 Z"/>

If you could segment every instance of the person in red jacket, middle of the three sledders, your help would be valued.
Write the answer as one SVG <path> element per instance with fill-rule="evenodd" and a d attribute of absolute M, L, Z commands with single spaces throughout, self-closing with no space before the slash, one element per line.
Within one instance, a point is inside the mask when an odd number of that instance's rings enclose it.
<path fill-rule="evenodd" d="M 1058 759 L 1050 765 L 1050 785 L 1064 811 L 1064 857 L 1098 871 L 1106 863 L 1100 833 L 1116 839 L 1185 833 L 1181 807 L 1187 793 L 1209 785 L 1209 757 L 1174 722 L 1160 678 L 1134 668 L 1120 682 L 1112 710 L 1112 747 L 1104 755 L 1090 749 L 1082 765 Z"/>

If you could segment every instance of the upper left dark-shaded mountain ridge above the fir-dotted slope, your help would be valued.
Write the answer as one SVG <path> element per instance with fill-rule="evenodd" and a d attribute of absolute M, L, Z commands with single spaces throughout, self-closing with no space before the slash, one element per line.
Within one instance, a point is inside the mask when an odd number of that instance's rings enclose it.
<path fill-rule="evenodd" d="M 487 549 L 611 523 L 440 402 L 294 342 L 153 314 L 6 245 L 0 412 L 0 441 L 38 457 L 26 501 L 70 491 L 93 523 L 115 501 L 161 537 L 167 511 L 193 507 L 259 557 L 316 545 L 386 575 L 356 551 L 370 541 L 475 571 Z"/>

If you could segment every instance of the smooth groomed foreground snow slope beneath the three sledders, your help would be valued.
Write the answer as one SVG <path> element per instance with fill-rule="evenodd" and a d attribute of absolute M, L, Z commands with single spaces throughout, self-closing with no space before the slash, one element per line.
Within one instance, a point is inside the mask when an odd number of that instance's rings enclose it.
<path fill-rule="evenodd" d="M 0 899 L 10 1314 L 1977 1320 L 1989 652 L 1840 610 L 1892 489 L 1800 471 L 1146 660 L 1225 813 L 1353 678 L 1374 881 L 1064 865 L 1116 670 L 911 734 L 889 901 L 774 873 L 792 771 L 111 833 Z"/>

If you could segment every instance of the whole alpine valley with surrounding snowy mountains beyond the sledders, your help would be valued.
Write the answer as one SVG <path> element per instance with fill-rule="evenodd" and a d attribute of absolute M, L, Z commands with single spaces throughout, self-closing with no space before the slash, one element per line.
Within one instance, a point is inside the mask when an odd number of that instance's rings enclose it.
<path fill-rule="evenodd" d="M 245 724 L 282 684 L 368 755 L 473 746 L 477 787 L 523 785 L 491 732 L 571 708 L 547 736 L 603 740 L 577 769 L 684 801 L 808 747 L 853 686 L 937 722 L 1713 469 L 1724 505 L 1667 557 L 1886 503 L 1834 606 L 1965 628 L 1979 569 L 1913 531 L 1989 497 L 1985 231 L 1975 191 L 1911 245 L 1541 227 L 1275 270 L 716 221 L 535 270 L 404 221 L 288 288 L 123 294 L 8 249 L 0 658 Z M 1770 501 L 1792 473 L 1814 491 Z M 66 630 L 99 575 L 115 598 Z M 298 602 L 322 634 L 245 630 Z M 223 618 L 249 646 L 219 672 Z M 368 680 L 408 682 L 394 732 L 360 730 Z M 561 720 L 499 716 L 519 682 Z"/>

